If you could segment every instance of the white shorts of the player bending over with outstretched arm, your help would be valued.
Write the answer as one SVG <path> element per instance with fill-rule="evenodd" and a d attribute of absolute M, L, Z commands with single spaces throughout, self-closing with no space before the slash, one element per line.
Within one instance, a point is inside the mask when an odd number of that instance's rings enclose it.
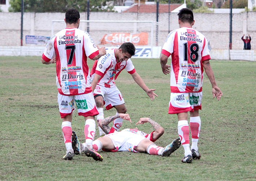
<path fill-rule="evenodd" d="M 122 105 L 125 103 L 123 96 L 117 87 L 103 87 L 96 85 L 94 90 L 94 96 L 100 94 L 104 99 L 104 106 L 107 110 L 113 108 L 113 106 Z"/>

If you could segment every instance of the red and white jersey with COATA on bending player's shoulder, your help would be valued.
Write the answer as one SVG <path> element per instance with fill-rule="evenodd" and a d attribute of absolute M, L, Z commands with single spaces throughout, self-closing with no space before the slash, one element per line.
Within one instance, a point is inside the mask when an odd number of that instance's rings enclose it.
<path fill-rule="evenodd" d="M 106 55 L 94 62 L 91 71 L 91 79 L 94 78 L 95 74 L 100 75 L 101 78 L 97 85 L 108 88 L 114 87 L 116 86 L 114 80 L 117 79 L 123 69 L 127 70 L 129 74 L 133 74 L 136 71 L 131 59 L 117 63 L 114 50 L 115 49 L 106 50 Z"/>

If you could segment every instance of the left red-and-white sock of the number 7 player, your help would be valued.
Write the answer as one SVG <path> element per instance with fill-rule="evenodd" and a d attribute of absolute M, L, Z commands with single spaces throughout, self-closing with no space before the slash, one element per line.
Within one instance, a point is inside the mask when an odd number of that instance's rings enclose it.
<path fill-rule="evenodd" d="M 67 149 L 67 153 L 70 151 L 71 153 L 74 153 L 72 149 L 72 128 L 71 128 L 71 122 L 69 121 L 63 121 L 61 125 L 62 134 L 65 142 L 65 146 Z"/>

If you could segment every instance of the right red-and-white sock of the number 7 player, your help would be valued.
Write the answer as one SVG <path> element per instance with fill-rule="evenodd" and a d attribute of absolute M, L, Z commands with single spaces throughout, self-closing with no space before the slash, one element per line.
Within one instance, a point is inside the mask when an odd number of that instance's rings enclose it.
<path fill-rule="evenodd" d="M 95 120 L 93 119 L 87 119 L 85 121 L 84 126 L 84 135 L 85 135 L 85 142 L 87 144 L 87 147 L 92 149 L 92 141 L 94 140 L 95 135 Z"/>

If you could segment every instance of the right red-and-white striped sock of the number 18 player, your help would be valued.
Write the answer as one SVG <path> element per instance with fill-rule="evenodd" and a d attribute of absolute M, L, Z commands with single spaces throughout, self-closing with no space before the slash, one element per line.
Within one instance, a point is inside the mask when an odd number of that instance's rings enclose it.
<path fill-rule="evenodd" d="M 199 139 L 200 129 L 201 129 L 200 116 L 190 117 L 189 125 L 190 125 L 190 131 L 192 136 L 191 150 L 195 149 L 196 151 L 198 151 L 198 139 Z"/>

